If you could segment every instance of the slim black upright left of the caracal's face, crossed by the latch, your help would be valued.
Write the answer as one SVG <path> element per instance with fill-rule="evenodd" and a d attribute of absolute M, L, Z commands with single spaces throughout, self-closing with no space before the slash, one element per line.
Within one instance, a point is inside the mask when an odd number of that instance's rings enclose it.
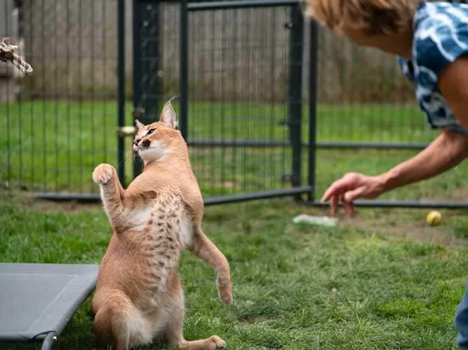
<path fill-rule="evenodd" d="M 125 0 L 119 0 L 117 9 L 117 35 L 118 35 L 118 80 L 119 87 L 117 92 L 118 99 L 118 117 L 119 127 L 125 125 Z M 125 185 L 125 139 L 118 136 L 117 139 L 117 172 L 120 182 Z"/>

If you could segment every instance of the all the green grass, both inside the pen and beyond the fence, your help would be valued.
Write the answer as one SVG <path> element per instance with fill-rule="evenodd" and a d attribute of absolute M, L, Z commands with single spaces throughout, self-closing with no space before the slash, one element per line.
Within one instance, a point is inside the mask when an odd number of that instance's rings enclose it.
<path fill-rule="evenodd" d="M 288 139 L 279 106 L 191 108 L 194 139 Z M 130 104 L 127 109 L 130 118 Z M 112 102 L 0 104 L 0 116 L 0 176 L 11 188 L 95 192 L 95 165 L 117 166 Z M 304 139 L 306 131 L 307 123 Z M 435 135 L 414 106 L 319 106 L 321 141 L 427 142 Z M 190 151 L 206 196 L 288 186 L 290 149 Z M 319 150 L 316 195 L 346 172 L 378 174 L 413 155 Z M 126 162 L 130 179 L 128 151 Z M 306 167 L 304 152 L 305 179 Z M 466 174 L 468 162 L 382 199 L 466 201 Z M 0 191 L 0 261 L 100 262 L 111 231 L 98 204 L 53 204 Z M 291 223 L 304 212 L 326 214 L 289 199 L 206 209 L 203 227 L 231 262 L 235 302 L 222 304 L 211 269 L 185 253 L 187 339 L 216 334 L 228 349 L 456 349 L 453 314 L 467 279 L 466 211 L 444 212 L 437 228 L 427 227 L 427 211 L 420 210 L 362 209 L 337 228 Z M 93 349 L 91 320 L 86 302 L 57 349 Z"/>

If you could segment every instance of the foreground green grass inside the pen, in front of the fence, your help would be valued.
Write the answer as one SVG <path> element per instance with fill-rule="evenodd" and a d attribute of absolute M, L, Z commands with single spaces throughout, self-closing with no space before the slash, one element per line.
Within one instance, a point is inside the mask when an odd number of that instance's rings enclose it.
<path fill-rule="evenodd" d="M 100 262 L 111 234 L 100 206 L 1 195 L 2 262 Z M 290 200 L 206 209 L 203 228 L 232 267 L 234 305 L 218 300 L 210 267 L 184 253 L 187 339 L 216 334 L 227 349 L 456 349 L 466 213 L 444 212 L 438 228 L 427 228 L 425 211 L 380 209 L 337 228 L 291 223 L 304 212 L 325 214 Z M 88 301 L 56 349 L 93 349 L 91 321 Z"/>

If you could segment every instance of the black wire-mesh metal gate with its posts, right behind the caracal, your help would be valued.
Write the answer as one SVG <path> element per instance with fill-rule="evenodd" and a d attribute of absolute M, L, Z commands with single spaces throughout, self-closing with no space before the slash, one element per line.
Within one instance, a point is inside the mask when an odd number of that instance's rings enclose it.
<path fill-rule="evenodd" d="M 180 130 L 206 204 L 312 197 L 299 3 L 135 0 L 133 15 L 133 115 L 150 123 L 180 94 Z"/>

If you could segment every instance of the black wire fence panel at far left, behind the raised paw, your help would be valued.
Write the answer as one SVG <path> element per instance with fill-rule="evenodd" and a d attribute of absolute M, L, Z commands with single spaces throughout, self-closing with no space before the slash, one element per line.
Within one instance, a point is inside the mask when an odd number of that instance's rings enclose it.
<path fill-rule="evenodd" d="M 34 66 L 0 66 L 0 172 L 9 188 L 91 193 L 117 163 L 117 1 L 1 0 L 0 36 Z"/>

